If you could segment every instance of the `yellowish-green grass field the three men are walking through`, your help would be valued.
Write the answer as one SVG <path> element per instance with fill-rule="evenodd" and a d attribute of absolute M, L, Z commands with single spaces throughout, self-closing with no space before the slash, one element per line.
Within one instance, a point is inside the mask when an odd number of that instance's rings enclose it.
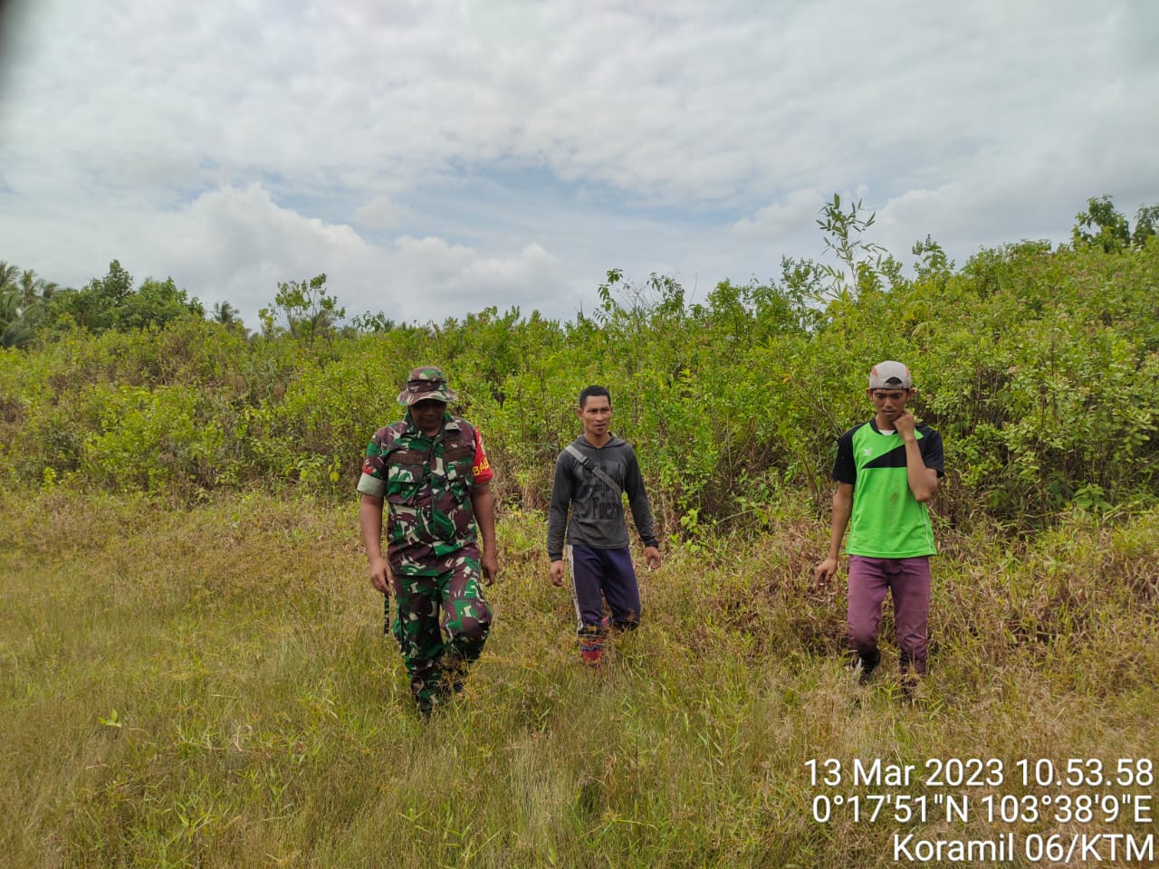
<path fill-rule="evenodd" d="M 423 724 L 352 501 L 5 496 L 0 864 L 845 869 L 898 864 L 895 835 L 1008 832 L 1008 864 L 1045 866 L 1026 856 L 1034 835 L 1159 838 L 1132 815 L 1150 798 L 1159 817 L 1153 766 L 1135 762 L 1159 762 L 1157 511 L 1032 539 L 943 528 L 912 703 L 891 644 L 873 685 L 851 680 L 844 597 L 809 587 L 828 526 L 807 511 L 668 549 L 642 572 L 643 627 L 598 674 L 544 533 L 502 516 L 491 640 Z M 825 775 L 829 758 L 831 788 L 807 766 Z M 1003 781 L 991 765 L 977 787 L 928 783 L 926 761 L 950 758 L 1000 760 Z M 914 765 L 914 781 L 854 786 L 854 759 Z M 1038 759 L 1077 783 L 1023 786 Z M 1070 759 L 1102 761 L 1109 783 Z M 1088 820 L 1051 811 L 1093 790 Z M 854 795 L 888 803 L 855 820 L 836 802 Z M 896 817 L 923 795 L 924 821 Z M 945 795 L 968 820 L 947 821 Z M 1020 804 L 1037 820 L 985 817 L 986 796 L 1037 795 L 1054 804 Z M 1103 864 L 1146 864 L 1109 860 L 1107 841 Z"/>

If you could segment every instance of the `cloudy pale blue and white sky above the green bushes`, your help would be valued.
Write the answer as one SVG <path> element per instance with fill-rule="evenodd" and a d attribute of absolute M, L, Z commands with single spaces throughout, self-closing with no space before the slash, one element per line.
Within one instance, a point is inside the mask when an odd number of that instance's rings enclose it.
<path fill-rule="evenodd" d="M 118 260 L 250 328 L 590 311 L 610 269 L 704 301 L 826 260 L 858 198 L 903 263 L 1159 203 L 1152 0 L 8 0 L 0 260 Z M 836 264 L 836 263 L 834 263 Z"/>

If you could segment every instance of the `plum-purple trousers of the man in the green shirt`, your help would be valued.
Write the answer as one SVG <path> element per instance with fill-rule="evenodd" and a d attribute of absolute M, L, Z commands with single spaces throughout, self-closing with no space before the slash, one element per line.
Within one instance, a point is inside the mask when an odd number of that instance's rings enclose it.
<path fill-rule="evenodd" d="M 930 556 L 870 558 L 850 556 L 850 645 L 862 662 L 877 657 L 877 628 L 885 591 L 894 596 L 894 623 L 902 672 L 926 673 L 930 631 Z"/>

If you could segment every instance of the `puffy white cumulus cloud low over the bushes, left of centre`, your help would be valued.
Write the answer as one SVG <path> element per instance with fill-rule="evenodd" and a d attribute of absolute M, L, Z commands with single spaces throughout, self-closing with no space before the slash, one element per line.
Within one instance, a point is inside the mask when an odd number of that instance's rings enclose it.
<path fill-rule="evenodd" d="M 538 244 L 509 257 L 438 238 L 402 236 L 379 247 L 350 226 L 279 207 L 256 184 L 206 193 L 161 219 L 150 246 L 190 292 L 228 299 L 253 323 L 278 282 L 321 272 L 350 316 L 381 309 L 398 321 L 423 322 L 534 301 L 561 279 L 557 261 Z"/>

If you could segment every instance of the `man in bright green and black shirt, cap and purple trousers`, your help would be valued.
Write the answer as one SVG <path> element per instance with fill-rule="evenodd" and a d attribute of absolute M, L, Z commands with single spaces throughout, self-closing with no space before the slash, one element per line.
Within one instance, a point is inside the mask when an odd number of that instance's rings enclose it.
<path fill-rule="evenodd" d="M 837 444 L 833 523 L 829 557 L 817 565 L 822 586 L 837 575 L 841 539 L 850 555 L 850 644 L 867 680 L 881 660 L 877 627 L 885 592 L 894 621 L 903 685 L 926 672 L 930 618 L 930 556 L 936 554 L 926 503 L 945 474 L 941 436 L 918 425 L 905 409 L 913 380 L 902 363 L 883 362 L 866 389 L 877 412 L 850 429 Z"/>

